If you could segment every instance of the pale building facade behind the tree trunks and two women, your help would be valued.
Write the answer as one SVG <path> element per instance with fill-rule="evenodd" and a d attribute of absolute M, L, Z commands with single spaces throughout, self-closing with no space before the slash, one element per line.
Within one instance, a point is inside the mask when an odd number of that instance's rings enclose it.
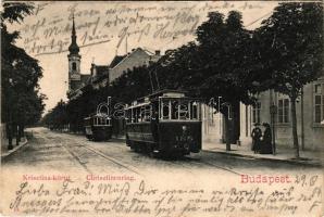
<path fill-rule="evenodd" d="M 233 120 L 239 131 L 236 144 L 251 145 L 251 130 L 256 123 L 269 123 L 274 126 L 277 148 L 292 148 L 292 123 L 288 95 L 273 90 L 257 95 L 254 105 L 239 104 L 238 120 Z M 272 119 L 271 106 L 275 105 Z M 202 108 L 202 135 L 205 142 L 224 143 L 224 117 L 208 105 Z M 298 141 L 304 150 L 324 150 L 324 76 L 303 87 L 296 103 Z M 234 137 L 234 136 L 232 136 Z M 224 144 L 225 148 L 225 144 Z"/>

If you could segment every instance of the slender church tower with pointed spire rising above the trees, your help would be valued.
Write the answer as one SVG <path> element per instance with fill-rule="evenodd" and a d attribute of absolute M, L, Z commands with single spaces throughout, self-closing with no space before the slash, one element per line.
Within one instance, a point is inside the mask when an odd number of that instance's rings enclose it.
<path fill-rule="evenodd" d="M 80 55 L 78 54 L 79 48 L 76 43 L 76 33 L 74 16 L 72 21 L 72 35 L 71 35 L 71 44 L 68 47 L 68 91 L 74 91 L 78 88 L 80 82 Z"/>

